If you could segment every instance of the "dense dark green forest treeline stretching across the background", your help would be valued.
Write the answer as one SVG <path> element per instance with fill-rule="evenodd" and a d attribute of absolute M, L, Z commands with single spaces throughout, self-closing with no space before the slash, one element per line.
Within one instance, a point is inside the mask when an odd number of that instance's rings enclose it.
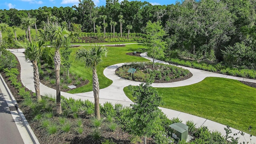
<path fill-rule="evenodd" d="M 80 0 L 72 7 L 42 7 L 37 10 L 0 10 L 0 20 L 20 26 L 22 18 L 65 24 L 83 32 L 144 33 L 148 21 L 160 21 L 166 31 L 166 56 L 224 62 L 256 68 L 256 0 L 183 0 L 171 5 L 149 2 L 106 0 L 96 7 L 92 0 Z M 113 27 L 113 25 L 115 27 Z M 132 26 L 132 27 L 131 27 Z"/>

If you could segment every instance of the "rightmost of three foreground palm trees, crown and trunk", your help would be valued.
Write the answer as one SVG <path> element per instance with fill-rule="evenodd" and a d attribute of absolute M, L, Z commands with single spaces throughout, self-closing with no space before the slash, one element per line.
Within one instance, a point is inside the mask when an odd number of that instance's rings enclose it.
<path fill-rule="evenodd" d="M 97 75 L 97 66 L 103 61 L 103 56 L 108 53 L 107 48 L 100 45 L 93 45 L 89 50 L 84 48 L 79 49 L 76 52 L 76 59 L 81 60 L 85 63 L 85 66 L 92 68 L 92 90 L 94 96 L 94 111 L 95 117 L 100 120 L 100 102 L 99 102 L 99 79 Z"/>

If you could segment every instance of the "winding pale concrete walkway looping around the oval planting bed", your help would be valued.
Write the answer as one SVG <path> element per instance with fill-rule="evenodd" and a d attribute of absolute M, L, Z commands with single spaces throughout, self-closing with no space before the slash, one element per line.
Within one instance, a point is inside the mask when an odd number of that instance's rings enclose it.
<path fill-rule="evenodd" d="M 33 92 L 35 92 L 34 89 L 34 83 L 33 83 L 33 67 L 31 62 L 26 62 L 25 58 L 24 58 L 24 54 L 22 52 L 24 52 L 24 49 L 18 49 L 18 50 L 10 50 L 13 54 L 16 55 L 16 57 L 18 58 L 19 62 L 20 62 L 20 66 L 21 66 L 21 80 L 22 80 L 22 84 L 24 84 L 24 86 L 26 86 L 28 89 L 32 90 Z M 149 58 L 148 56 L 146 56 L 146 53 L 141 54 L 142 57 L 147 58 L 149 60 L 152 60 L 151 58 Z M 161 62 L 161 63 L 165 63 L 162 62 L 160 60 L 155 60 L 155 62 Z M 134 82 L 131 80 L 124 80 L 123 78 L 120 78 L 119 76 L 117 76 L 115 74 L 115 70 L 116 68 L 122 66 L 122 64 L 114 64 L 112 66 L 108 66 L 105 70 L 104 70 L 104 75 L 109 78 L 110 80 L 113 81 L 113 83 L 108 86 L 107 88 L 103 88 L 100 89 L 100 103 L 103 104 L 104 102 L 111 102 L 112 104 L 116 104 L 116 103 L 120 103 L 123 104 L 124 106 L 130 106 L 130 104 L 132 104 L 133 102 L 126 97 L 126 95 L 124 94 L 123 88 L 128 86 L 128 85 L 138 85 L 141 82 Z M 213 72 L 206 72 L 203 70 L 197 70 L 194 68 L 187 68 L 187 67 L 183 67 L 180 66 L 182 68 L 188 69 L 190 70 L 190 72 L 193 74 L 193 76 L 187 80 L 184 81 L 180 81 L 180 82 L 172 82 L 172 83 L 162 83 L 162 84 L 152 84 L 152 86 L 154 87 L 178 87 L 178 86 L 187 86 L 187 85 L 191 85 L 191 84 L 195 84 L 198 83 L 200 81 L 202 81 L 204 78 L 206 77 L 221 77 L 221 78 L 230 78 L 230 79 L 235 79 L 235 80 L 244 80 L 244 81 L 248 81 L 248 82 L 256 82 L 256 80 L 251 80 L 251 79 L 246 79 L 246 78 L 238 78 L 238 77 L 234 77 L 234 76 L 227 76 L 227 75 L 223 75 L 223 74 L 216 74 Z M 56 96 L 56 90 L 54 90 L 53 88 L 49 88 L 47 86 L 44 86 L 43 84 L 40 84 L 40 92 L 41 95 L 44 96 L 52 96 L 53 98 L 55 98 Z M 75 99 L 82 99 L 82 100 L 91 100 L 92 102 L 94 102 L 94 97 L 93 97 L 93 92 L 84 92 L 84 93 L 78 93 L 78 94 L 69 94 L 66 92 L 61 92 L 61 95 L 66 97 L 66 98 L 75 98 Z M 223 135 L 226 135 L 224 128 L 226 127 L 223 124 L 219 124 L 217 122 L 205 119 L 205 118 L 200 118 L 198 116 L 194 116 L 191 114 L 186 114 L 184 112 L 179 112 L 176 110 L 170 110 L 170 109 L 166 109 L 166 108 L 160 108 L 162 110 L 162 112 L 164 112 L 166 114 L 166 116 L 168 118 L 180 118 L 183 122 L 186 122 L 187 120 L 193 120 L 196 123 L 197 127 L 200 126 L 207 126 L 209 128 L 209 130 L 217 130 L 219 132 L 221 132 Z M 239 130 L 236 130 L 234 128 L 231 128 L 233 133 L 239 132 Z M 239 142 L 249 142 L 250 143 L 250 135 L 249 134 L 245 134 L 244 136 L 240 136 L 238 135 L 238 137 L 240 137 Z M 256 137 L 252 136 L 252 144 L 256 143 Z"/>

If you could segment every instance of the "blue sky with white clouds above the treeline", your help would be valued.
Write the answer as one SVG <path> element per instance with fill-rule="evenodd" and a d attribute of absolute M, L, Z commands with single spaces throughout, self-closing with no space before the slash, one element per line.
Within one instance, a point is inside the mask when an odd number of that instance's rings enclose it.
<path fill-rule="evenodd" d="M 96 6 L 102 6 L 106 4 L 106 0 L 92 0 Z M 122 0 L 119 0 L 121 2 Z M 144 1 L 144 0 L 140 0 Z M 180 0 L 145 0 L 153 5 L 167 5 L 175 4 L 176 1 Z M 0 9 L 9 10 L 10 8 L 16 8 L 18 10 L 34 10 L 39 7 L 66 7 L 77 5 L 78 0 L 0 0 Z"/>

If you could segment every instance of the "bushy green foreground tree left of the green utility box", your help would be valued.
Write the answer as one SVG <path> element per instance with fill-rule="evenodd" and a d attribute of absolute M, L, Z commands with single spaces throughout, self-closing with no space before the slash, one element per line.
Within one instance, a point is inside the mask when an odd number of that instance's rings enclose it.
<path fill-rule="evenodd" d="M 131 105 L 130 113 L 133 120 L 132 132 L 138 136 L 144 136 L 144 144 L 146 144 L 146 138 L 161 129 L 159 127 L 161 110 L 158 106 L 163 104 L 162 96 L 148 82 L 129 88 L 132 90 L 132 96 L 136 98 L 135 103 Z"/>

